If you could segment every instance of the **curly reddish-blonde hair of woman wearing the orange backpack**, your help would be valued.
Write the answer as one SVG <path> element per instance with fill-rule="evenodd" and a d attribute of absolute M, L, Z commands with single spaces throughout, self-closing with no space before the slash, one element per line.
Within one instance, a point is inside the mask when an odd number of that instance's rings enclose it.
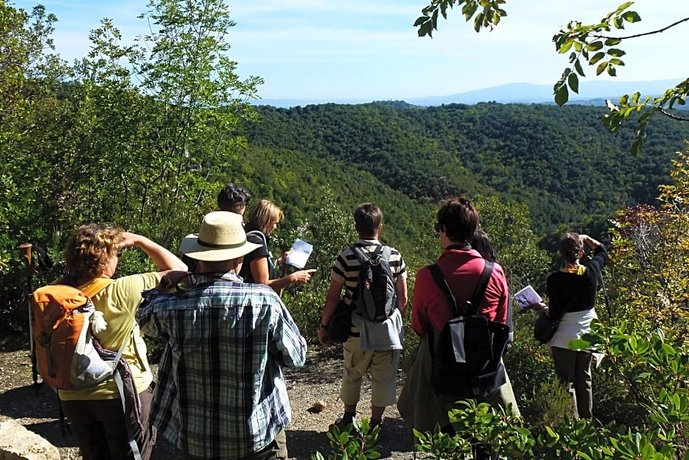
<path fill-rule="evenodd" d="M 65 263 L 69 277 L 93 279 L 101 276 L 108 261 L 117 256 L 124 230 L 105 224 L 77 228 L 67 241 Z"/>

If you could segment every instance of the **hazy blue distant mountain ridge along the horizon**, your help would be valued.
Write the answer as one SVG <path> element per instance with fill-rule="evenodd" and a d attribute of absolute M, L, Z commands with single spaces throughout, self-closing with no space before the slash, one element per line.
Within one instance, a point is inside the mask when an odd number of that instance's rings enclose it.
<path fill-rule="evenodd" d="M 579 94 L 570 93 L 570 103 L 585 105 L 602 105 L 605 99 L 617 101 L 623 94 L 640 91 L 643 96 L 658 96 L 666 89 L 682 81 L 585 81 L 580 84 Z M 397 98 L 399 99 L 399 98 Z M 402 99 L 409 104 L 419 106 L 439 106 L 443 104 L 477 104 L 480 102 L 498 102 L 503 104 L 552 104 L 553 86 L 533 83 L 508 83 L 489 88 L 450 94 L 447 96 L 427 96 Z M 370 99 L 261 99 L 255 105 L 273 107 L 297 107 L 312 104 L 362 104 L 372 102 Z"/>

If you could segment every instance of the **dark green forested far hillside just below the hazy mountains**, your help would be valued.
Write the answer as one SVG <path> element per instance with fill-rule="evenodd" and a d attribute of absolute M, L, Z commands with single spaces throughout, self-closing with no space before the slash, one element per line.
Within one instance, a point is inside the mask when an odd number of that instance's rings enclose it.
<path fill-rule="evenodd" d="M 689 126 L 654 120 L 631 156 L 630 129 L 606 131 L 589 106 L 404 103 L 259 107 L 249 142 L 341 161 L 417 200 L 497 192 L 528 204 L 535 230 L 600 222 L 652 202 Z"/>

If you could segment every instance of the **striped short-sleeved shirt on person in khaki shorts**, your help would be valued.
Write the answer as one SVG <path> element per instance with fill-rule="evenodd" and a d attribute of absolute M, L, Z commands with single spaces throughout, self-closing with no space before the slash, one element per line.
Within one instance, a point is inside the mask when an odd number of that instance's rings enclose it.
<path fill-rule="evenodd" d="M 381 243 L 378 240 L 359 240 L 354 243 L 354 246 L 359 246 L 367 254 L 375 251 Z M 407 266 L 402 259 L 402 255 L 397 249 L 390 248 L 390 260 L 388 261 L 390 270 L 392 270 L 395 277 L 394 282 L 407 277 Z M 352 250 L 351 246 L 346 247 L 335 260 L 332 272 L 330 273 L 331 280 L 344 281 L 345 294 L 344 302 L 349 305 L 352 303 L 352 295 L 359 284 L 359 271 L 361 269 L 361 262 Z"/>

